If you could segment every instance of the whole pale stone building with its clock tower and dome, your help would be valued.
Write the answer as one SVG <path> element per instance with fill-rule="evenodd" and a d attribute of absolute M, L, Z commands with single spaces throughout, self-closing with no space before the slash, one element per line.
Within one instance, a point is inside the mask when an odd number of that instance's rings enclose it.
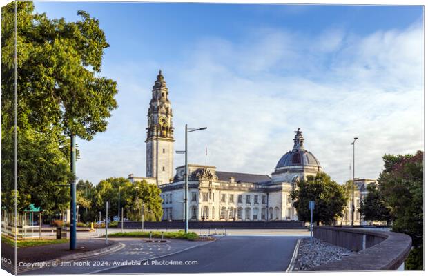
<path fill-rule="evenodd" d="M 159 71 L 148 108 L 146 180 L 161 188 L 164 220 L 184 219 L 184 166 L 173 174 L 173 113 L 168 88 Z M 271 176 L 217 171 L 215 166 L 188 165 L 188 214 L 192 220 L 298 220 L 290 193 L 298 179 L 322 172 L 320 162 L 304 149 L 300 128 L 294 146 L 278 161 Z"/>

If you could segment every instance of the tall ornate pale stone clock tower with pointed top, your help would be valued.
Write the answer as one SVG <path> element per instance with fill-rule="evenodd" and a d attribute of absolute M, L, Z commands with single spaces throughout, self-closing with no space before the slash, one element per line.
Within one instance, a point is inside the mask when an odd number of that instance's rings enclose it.
<path fill-rule="evenodd" d="M 162 71 L 155 81 L 147 114 L 146 177 L 157 185 L 172 182 L 174 159 L 173 110 Z"/>

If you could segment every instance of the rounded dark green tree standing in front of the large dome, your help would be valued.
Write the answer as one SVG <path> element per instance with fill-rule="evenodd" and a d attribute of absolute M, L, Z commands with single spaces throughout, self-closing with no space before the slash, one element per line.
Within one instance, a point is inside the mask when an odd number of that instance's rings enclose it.
<path fill-rule="evenodd" d="M 313 220 L 322 224 L 333 224 L 340 217 L 347 204 L 344 188 L 331 180 L 329 175 L 318 172 L 308 175 L 306 179 L 298 181 L 298 188 L 293 190 L 291 198 L 293 207 L 298 213 L 300 221 L 310 221 L 311 212 L 309 201 L 315 201 Z"/>

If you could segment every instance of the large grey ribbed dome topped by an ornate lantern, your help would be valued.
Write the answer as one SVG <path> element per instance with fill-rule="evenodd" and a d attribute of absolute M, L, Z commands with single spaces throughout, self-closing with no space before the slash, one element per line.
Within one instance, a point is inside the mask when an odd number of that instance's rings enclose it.
<path fill-rule="evenodd" d="M 276 164 L 275 169 L 295 166 L 311 166 L 321 168 L 320 161 L 309 151 L 303 148 L 303 136 L 300 128 L 295 132 L 293 150 L 286 152 Z"/>

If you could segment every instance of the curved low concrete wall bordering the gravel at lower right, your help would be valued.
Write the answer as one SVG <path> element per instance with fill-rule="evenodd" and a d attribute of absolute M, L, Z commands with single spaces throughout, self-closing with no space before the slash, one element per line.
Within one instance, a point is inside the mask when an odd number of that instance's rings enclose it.
<path fill-rule="evenodd" d="M 314 237 L 360 251 L 312 269 L 316 271 L 397 270 L 411 249 L 411 237 L 387 231 L 320 226 L 314 228 Z"/>

